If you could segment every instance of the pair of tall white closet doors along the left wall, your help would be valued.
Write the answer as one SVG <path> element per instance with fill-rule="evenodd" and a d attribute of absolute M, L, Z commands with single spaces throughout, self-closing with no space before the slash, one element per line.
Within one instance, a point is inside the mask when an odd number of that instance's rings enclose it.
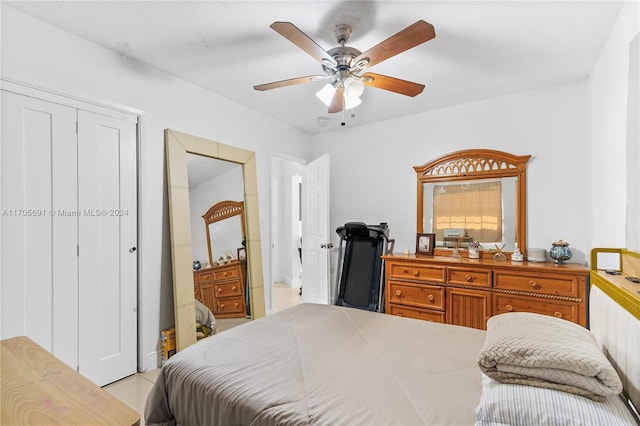
<path fill-rule="evenodd" d="M 137 117 L 1 94 L 0 338 L 99 386 L 133 374 Z"/>

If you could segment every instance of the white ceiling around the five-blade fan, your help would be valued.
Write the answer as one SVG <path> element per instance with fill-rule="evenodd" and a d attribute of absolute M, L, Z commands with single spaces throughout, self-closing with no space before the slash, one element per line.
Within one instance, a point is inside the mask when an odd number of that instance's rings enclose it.
<path fill-rule="evenodd" d="M 614 1 L 28 1 L 6 4 L 309 133 L 586 78 L 622 6 Z M 325 50 L 349 24 L 361 51 L 419 19 L 436 38 L 370 69 L 426 85 L 415 98 L 367 87 L 363 103 L 328 114 L 326 81 L 266 92 L 256 84 L 322 73 L 269 28 L 289 21 Z M 352 116 L 353 114 L 353 116 Z M 319 117 L 329 118 L 324 127 Z"/>

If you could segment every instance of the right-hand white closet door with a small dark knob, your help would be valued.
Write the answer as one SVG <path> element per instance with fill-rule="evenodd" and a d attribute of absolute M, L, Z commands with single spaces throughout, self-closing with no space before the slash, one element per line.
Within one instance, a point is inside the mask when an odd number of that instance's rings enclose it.
<path fill-rule="evenodd" d="M 136 372 L 136 125 L 78 112 L 80 373 Z"/>

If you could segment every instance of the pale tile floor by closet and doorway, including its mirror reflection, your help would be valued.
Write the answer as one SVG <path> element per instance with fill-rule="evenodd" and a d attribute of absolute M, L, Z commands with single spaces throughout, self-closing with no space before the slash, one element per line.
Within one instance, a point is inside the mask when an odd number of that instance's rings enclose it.
<path fill-rule="evenodd" d="M 299 289 L 290 288 L 284 283 L 274 283 L 271 311 L 278 312 L 301 303 L 302 296 L 300 296 L 299 292 Z M 218 319 L 216 320 L 217 332 L 223 332 L 240 324 L 244 324 L 247 321 L 250 320 L 244 318 Z M 144 404 L 147 400 L 147 394 L 159 374 L 159 368 L 145 373 L 137 373 L 115 383 L 111 383 L 105 386 L 104 389 L 140 413 L 140 424 L 144 425 Z"/>

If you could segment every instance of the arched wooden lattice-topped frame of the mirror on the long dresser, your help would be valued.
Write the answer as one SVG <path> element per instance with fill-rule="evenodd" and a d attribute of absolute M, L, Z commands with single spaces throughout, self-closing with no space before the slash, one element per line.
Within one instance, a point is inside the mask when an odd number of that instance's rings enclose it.
<path fill-rule="evenodd" d="M 513 155 L 491 149 L 466 149 L 443 155 L 435 160 L 414 166 L 418 183 L 417 233 L 426 232 L 424 221 L 424 183 L 453 182 L 477 179 L 517 177 L 518 212 L 516 215 L 517 247 L 523 255 L 527 249 L 527 162 L 530 155 Z M 431 232 L 431 231 L 429 231 Z M 452 249 L 436 247 L 434 255 L 448 256 Z M 510 253 L 510 252 L 505 252 Z M 484 250 L 490 257 L 491 250 Z"/>

